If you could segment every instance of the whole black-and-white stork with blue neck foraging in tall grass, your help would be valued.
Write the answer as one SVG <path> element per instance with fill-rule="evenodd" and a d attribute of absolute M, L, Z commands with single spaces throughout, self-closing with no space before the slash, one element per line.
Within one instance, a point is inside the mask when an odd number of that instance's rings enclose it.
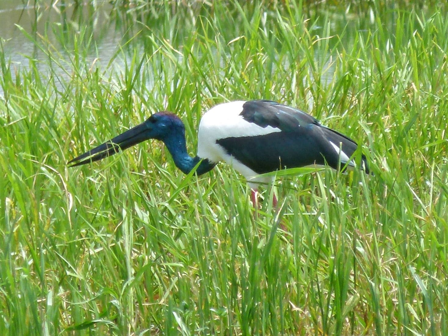
<path fill-rule="evenodd" d="M 270 100 L 250 100 L 216 105 L 202 116 L 195 157 L 190 157 L 186 149 L 184 123 L 175 114 L 163 111 L 69 164 L 97 161 L 148 139 L 163 141 L 185 174 L 199 164 L 196 173 L 201 175 L 225 161 L 250 183 L 254 205 L 258 184 L 273 180 L 259 175 L 310 165 L 326 164 L 336 170 L 355 167 L 351 156 L 358 147 L 349 137 L 322 126 L 299 109 Z M 368 173 L 364 155 L 361 166 Z"/>

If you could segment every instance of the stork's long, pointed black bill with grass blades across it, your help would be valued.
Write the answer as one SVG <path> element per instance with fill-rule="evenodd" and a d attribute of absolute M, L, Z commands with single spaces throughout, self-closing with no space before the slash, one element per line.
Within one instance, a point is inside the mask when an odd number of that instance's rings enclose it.
<path fill-rule="evenodd" d="M 112 140 L 109 140 L 104 144 L 100 144 L 98 147 L 90 149 L 86 153 L 75 157 L 67 164 L 71 164 L 70 167 L 81 166 L 86 163 L 98 161 L 104 157 L 111 156 L 121 150 L 134 146 L 134 144 L 150 139 L 148 136 L 148 131 L 147 125 L 141 123 L 140 125 L 131 128 L 129 131 L 125 131 L 124 133 L 117 135 Z"/>

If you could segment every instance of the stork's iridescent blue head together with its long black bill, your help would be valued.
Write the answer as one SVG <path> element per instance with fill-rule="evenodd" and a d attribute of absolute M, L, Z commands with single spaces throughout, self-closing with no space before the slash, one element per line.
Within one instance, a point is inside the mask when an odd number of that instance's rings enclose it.
<path fill-rule="evenodd" d="M 181 119 L 168 111 L 154 113 L 145 122 L 75 157 L 69 164 L 72 164 L 72 167 L 80 166 L 101 160 L 145 140 L 156 139 L 166 143 L 175 136 L 185 137 L 185 127 Z"/>

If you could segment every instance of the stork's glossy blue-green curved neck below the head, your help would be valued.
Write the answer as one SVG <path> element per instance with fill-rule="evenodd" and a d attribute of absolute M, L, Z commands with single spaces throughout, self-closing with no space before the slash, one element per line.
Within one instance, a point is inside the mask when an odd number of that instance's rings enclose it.
<path fill-rule="evenodd" d="M 183 132 L 164 140 L 164 143 L 171 153 L 176 167 L 185 174 L 190 173 L 201 160 L 201 163 L 196 169 L 196 174 L 198 175 L 207 173 L 207 171 L 210 171 L 215 166 L 215 163 L 212 163 L 207 159 L 201 159 L 198 156 L 190 157 L 190 155 L 188 155 L 185 144 L 185 133 Z"/>

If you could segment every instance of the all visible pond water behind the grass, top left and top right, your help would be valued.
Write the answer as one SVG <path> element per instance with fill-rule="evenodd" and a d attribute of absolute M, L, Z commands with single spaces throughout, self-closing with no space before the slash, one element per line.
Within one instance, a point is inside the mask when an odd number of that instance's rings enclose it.
<path fill-rule="evenodd" d="M 168 38 L 181 41 L 182 36 L 188 34 L 188 28 L 183 30 L 182 24 L 185 24 L 185 27 L 194 27 L 194 20 L 200 14 L 204 17 L 211 15 L 207 13 L 207 9 L 201 8 L 201 1 L 193 1 L 193 5 L 190 4 L 183 9 L 185 22 L 175 22 L 176 28 L 170 31 L 170 28 L 167 28 L 170 18 L 164 17 L 164 13 L 159 13 L 157 10 L 151 13 L 151 9 L 148 9 L 143 16 L 142 12 L 138 11 L 138 7 L 129 8 L 117 3 L 112 4 L 109 1 L 79 3 L 64 0 L 42 0 L 36 3 L 0 1 L 0 22 L 2 22 L 0 39 L 6 61 L 10 61 L 13 68 L 27 69 L 32 59 L 37 69 L 45 74 L 49 66 L 49 56 L 45 48 L 39 48 L 39 45 L 44 44 L 47 48 L 53 49 L 51 57 L 53 61 L 55 57 L 59 57 L 62 63 L 67 64 L 65 67 L 56 69 L 56 73 L 61 78 L 66 78 L 69 76 L 73 55 L 78 52 L 73 50 L 75 45 L 73 41 L 84 38 L 88 44 L 87 52 L 83 55 L 86 64 L 95 64 L 106 72 L 115 70 L 120 72 L 129 62 L 130 57 L 126 57 L 126 52 L 132 54 L 132 50 L 147 48 L 145 45 L 147 36 L 144 32 L 141 33 L 142 31 L 157 30 L 162 27 L 168 35 L 171 35 Z M 163 8 L 163 5 L 160 6 Z M 165 9 L 166 6 L 169 5 L 165 5 Z M 178 9 L 179 7 L 173 7 L 172 11 Z M 341 35 L 340 43 L 347 47 L 359 32 L 364 31 L 368 35 L 375 21 L 370 9 L 364 10 L 361 15 L 352 12 L 346 7 L 335 7 L 331 12 L 325 7 L 312 8 L 304 13 L 304 17 L 312 22 L 308 26 L 310 33 L 319 36 Z M 165 15 L 166 13 L 165 11 Z M 237 10 L 232 13 L 238 15 Z M 387 25 L 385 28 L 393 31 L 396 11 L 391 10 L 385 13 L 388 15 L 388 19 L 384 20 Z M 330 31 L 324 32 L 326 22 L 331 22 Z M 84 36 L 81 37 L 80 34 Z M 86 36 L 89 38 L 85 38 Z M 332 39 L 330 43 L 337 43 L 337 39 Z M 315 55 L 316 58 L 322 56 L 324 59 L 328 57 L 328 55 Z M 111 59 L 113 62 L 110 63 Z M 331 78 L 331 67 L 326 75 Z M 0 95 L 3 95 L 2 87 L 0 87 Z"/>

